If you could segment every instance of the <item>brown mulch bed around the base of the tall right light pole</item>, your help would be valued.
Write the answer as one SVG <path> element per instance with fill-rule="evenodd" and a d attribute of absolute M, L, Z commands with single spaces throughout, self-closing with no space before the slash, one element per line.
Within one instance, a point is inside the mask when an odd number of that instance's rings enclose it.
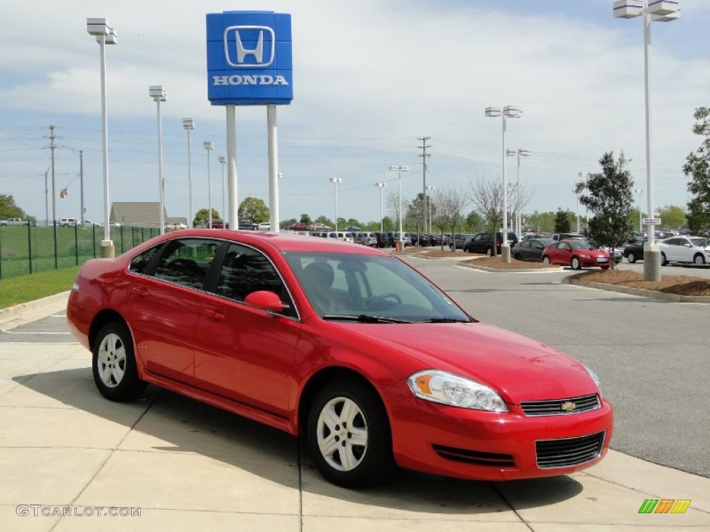
<path fill-rule="evenodd" d="M 641 288 L 679 296 L 710 296 L 710 279 L 689 275 L 666 275 L 660 282 L 645 281 L 643 274 L 628 270 L 589 271 L 572 275 L 570 279 L 616 284 L 621 287 Z"/>

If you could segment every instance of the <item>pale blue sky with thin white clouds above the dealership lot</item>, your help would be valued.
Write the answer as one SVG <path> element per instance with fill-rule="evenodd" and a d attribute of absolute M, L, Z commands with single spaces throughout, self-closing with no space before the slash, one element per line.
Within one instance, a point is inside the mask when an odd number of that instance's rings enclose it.
<path fill-rule="evenodd" d="M 187 216 L 187 133 L 192 131 L 193 210 L 220 213 L 225 109 L 207 100 L 205 15 L 235 10 L 290 13 L 293 92 L 278 106 L 280 218 L 380 218 L 380 189 L 398 189 L 391 165 L 408 165 L 405 200 L 427 185 L 470 194 L 502 179 L 500 118 L 518 106 L 506 148 L 520 162 L 525 211 L 576 209 L 579 172 L 599 172 L 603 153 L 623 151 L 635 189 L 647 189 L 642 18 L 613 18 L 612 0 L 37 0 L 6 2 L 0 17 L 0 194 L 38 220 L 53 218 L 49 126 L 55 126 L 55 218 L 80 217 L 79 156 L 87 218 L 103 220 L 99 45 L 87 17 L 119 35 L 107 46 L 110 201 L 158 201 L 156 104 L 162 84 L 163 175 L 168 216 Z M 652 183 L 655 205 L 685 207 L 682 166 L 701 138 L 693 113 L 710 106 L 710 0 L 681 1 L 682 16 L 652 23 Z M 268 205 L 266 107 L 236 110 L 239 201 Z M 48 174 L 49 193 L 45 190 Z M 508 182 L 518 178 L 507 157 Z M 67 188 L 67 197 L 59 192 Z M 646 196 L 635 198 L 643 201 Z M 47 209 L 48 205 L 48 209 Z M 473 209 L 469 204 L 464 209 Z M 387 212 L 385 213 L 388 214 Z"/>

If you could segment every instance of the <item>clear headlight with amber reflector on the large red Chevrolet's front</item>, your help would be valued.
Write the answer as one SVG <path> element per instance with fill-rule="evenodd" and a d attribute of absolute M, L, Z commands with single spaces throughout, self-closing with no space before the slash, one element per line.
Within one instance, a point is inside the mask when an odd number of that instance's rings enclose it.
<path fill-rule="evenodd" d="M 407 384 L 415 396 L 434 403 L 464 409 L 507 412 L 505 401 L 493 389 L 471 379 L 441 370 L 425 370 L 411 375 Z"/>

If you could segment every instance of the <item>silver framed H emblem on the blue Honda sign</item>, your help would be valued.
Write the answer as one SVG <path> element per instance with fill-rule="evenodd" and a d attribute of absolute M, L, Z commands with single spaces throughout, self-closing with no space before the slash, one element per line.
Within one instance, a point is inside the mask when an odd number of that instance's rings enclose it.
<path fill-rule="evenodd" d="M 245 43 L 253 44 L 247 48 Z M 276 35 L 268 26 L 229 26 L 224 30 L 224 58 L 230 67 L 266 68 L 273 63 L 275 50 Z"/>

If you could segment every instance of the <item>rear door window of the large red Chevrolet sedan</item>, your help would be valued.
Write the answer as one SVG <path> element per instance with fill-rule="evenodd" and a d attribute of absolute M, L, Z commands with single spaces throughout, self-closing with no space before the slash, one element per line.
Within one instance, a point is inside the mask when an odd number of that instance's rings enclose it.
<path fill-rule="evenodd" d="M 209 264 L 214 260 L 217 249 L 219 243 L 216 240 L 173 240 L 160 257 L 155 278 L 187 288 L 202 289 Z"/>

